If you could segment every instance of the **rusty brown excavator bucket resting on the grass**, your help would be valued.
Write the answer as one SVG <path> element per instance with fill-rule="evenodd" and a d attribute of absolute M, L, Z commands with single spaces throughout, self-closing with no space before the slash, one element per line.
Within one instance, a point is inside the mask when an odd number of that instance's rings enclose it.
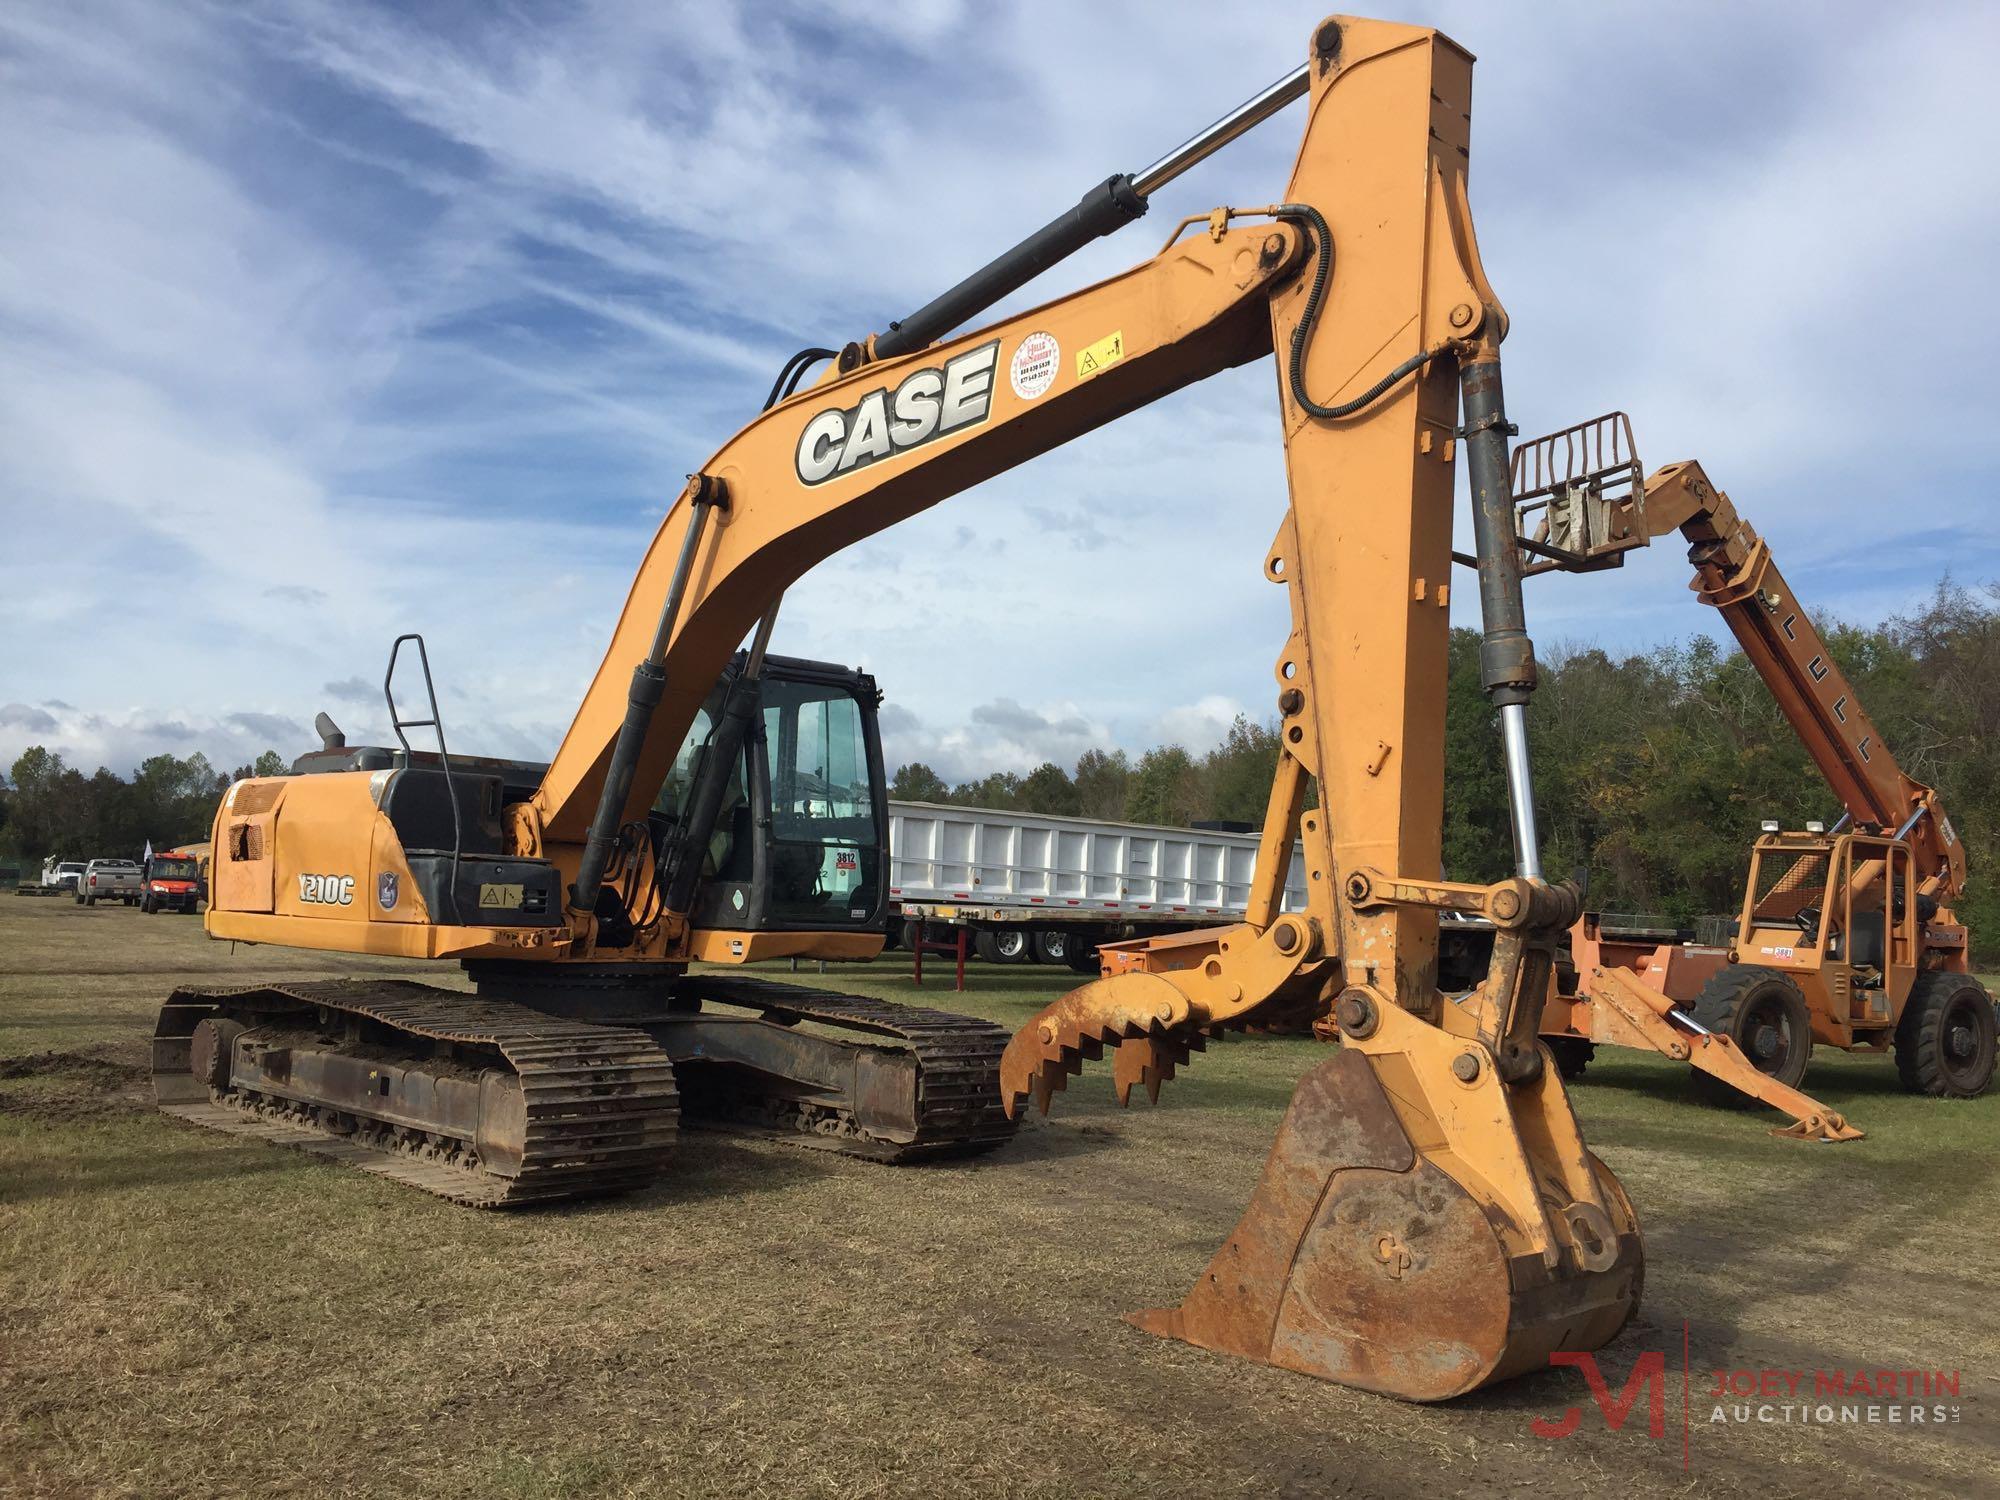
<path fill-rule="evenodd" d="M 1526 1226 L 1494 1220 L 1464 1162 L 1418 1146 L 1398 1102 L 1358 1050 L 1318 1064 L 1208 1270 L 1180 1306 L 1128 1320 L 1420 1402 L 1608 1342 L 1638 1306 L 1644 1264 L 1610 1170 L 1584 1154 L 1602 1206 L 1546 1194 L 1576 1242 L 1548 1264 L 1520 1252 Z"/>

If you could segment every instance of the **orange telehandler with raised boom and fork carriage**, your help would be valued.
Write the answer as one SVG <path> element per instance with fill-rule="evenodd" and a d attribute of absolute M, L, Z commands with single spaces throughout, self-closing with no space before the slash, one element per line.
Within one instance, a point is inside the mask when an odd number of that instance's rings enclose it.
<path fill-rule="evenodd" d="M 1724 1096 L 1792 1114 L 1780 1134 L 1814 1140 L 1860 1134 L 1798 1092 L 1814 1046 L 1894 1046 L 1904 1088 L 1982 1094 L 1994 1076 L 1994 1004 L 1968 972 L 1966 928 L 1952 912 L 1966 852 L 1936 788 L 1896 762 L 1770 544 L 1702 466 L 1640 474 L 1622 412 L 1518 446 L 1524 572 L 1618 566 L 1680 532 L 1690 588 L 1722 614 L 1842 814 L 1832 828 L 1764 822 L 1726 964 L 1676 986 L 1668 950 L 1640 964 L 1580 956 L 1576 994 L 1550 1002 L 1544 1036 L 1558 1054 L 1612 1042 L 1686 1058 Z"/>

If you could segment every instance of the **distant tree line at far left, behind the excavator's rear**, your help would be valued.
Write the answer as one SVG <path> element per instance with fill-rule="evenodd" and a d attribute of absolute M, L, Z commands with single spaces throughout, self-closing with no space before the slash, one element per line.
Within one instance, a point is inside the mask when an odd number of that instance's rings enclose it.
<path fill-rule="evenodd" d="M 130 778 L 98 766 L 84 774 L 60 754 L 32 746 L 0 788 L 0 854 L 40 864 L 64 860 L 136 860 L 154 850 L 202 844 L 216 800 L 244 776 L 278 776 L 288 762 L 266 750 L 252 764 L 220 772 L 192 756 L 148 756 Z"/>

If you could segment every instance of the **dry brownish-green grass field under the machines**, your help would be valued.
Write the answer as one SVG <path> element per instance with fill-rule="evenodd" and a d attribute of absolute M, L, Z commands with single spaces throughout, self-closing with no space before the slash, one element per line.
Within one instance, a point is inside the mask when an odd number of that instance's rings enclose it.
<path fill-rule="evenodd" d="M 1644 1400 L 1608 1432 L 1574 1370 L 1422 1408 L 1118 1320 L 1178 1300 L 1234 1226 L 1314 1042 L 1216 1046 L 1158 1110 L 1086 1074 L 972 1164 L 690 1134 L 644 1194 L 512 1216 L 152 1112 L 174 978 L 364 966 L 418 972 L 0 900 L 0 1492 L 2000 1492 L 2000 1096 L 1916 1100 L 1822 1054 L 1808 1086 L 1868 1138 L 1808 1146 L 1600 1052 L 1574 1100 L 1648 1244 L 1600 1358 L 1616 1390 L 1666 1352 L 1656 1440 Z M 922 994 L 1016 1024 L 1068 978 Z M 836 980 L 916 994 L 896 956 Z M 1714 1424 L 1716 1368 L 1962 1390 L 1942 1426 Z M 1574 1436 L 1530 1432 L 1568 1406 Z"/>

